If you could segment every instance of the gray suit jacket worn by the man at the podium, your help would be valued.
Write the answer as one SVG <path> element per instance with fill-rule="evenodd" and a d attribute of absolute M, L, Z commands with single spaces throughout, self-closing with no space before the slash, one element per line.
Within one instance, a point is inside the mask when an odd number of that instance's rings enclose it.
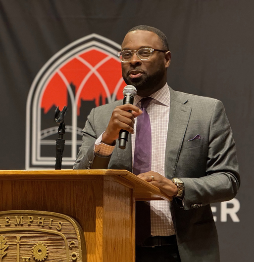
<path fill-rule="evenodd" d="M 182 262 L 219 262 L 217 231 L 210 203 L 227 201 L 240 186 L 236 148 L 222 103 L 170 88 L 170 116 L 165 152 L 165 176 L 185 184 L 183 201 L 171 205 Z M 96 139 L 105 131 L 116 101 L 92 110 L 83 130 L 75 169 L 132 171 L 131 135 L 125 150 L 118 141 L 111 157 L 94 155 Z M 200 134 L 201 138 L 188 141 Z"/>

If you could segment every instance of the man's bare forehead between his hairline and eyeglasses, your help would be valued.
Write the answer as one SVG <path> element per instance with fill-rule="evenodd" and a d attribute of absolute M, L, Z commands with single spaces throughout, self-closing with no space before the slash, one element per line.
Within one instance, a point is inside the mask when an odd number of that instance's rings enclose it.
<path fill-rule="evenodd" d="M 140 47 L 161 48 L 160 38 L 150 31 L 131 31 L 123 39 L 122 49 L 133 49 Z"/>

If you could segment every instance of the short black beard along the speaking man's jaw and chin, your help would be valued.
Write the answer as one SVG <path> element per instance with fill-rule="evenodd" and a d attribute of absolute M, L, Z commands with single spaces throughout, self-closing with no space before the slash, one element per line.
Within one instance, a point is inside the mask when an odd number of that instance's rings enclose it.
<path fill-rule="evenodd" d="M 142 74 L 140 77 L 131 78 L 129 75 L 127 77 L 123 76 L 123 79 L 126 84 L 130 84 L 136 87 L 138 95 L 150 93 L 151 90 L 157 91 L 157 85 L 161 82 L 165 74 L 165 68 L 159 68 L 152 75 L 147 73 Z M 154 91 L 154 92 L 155 92 Z"/>

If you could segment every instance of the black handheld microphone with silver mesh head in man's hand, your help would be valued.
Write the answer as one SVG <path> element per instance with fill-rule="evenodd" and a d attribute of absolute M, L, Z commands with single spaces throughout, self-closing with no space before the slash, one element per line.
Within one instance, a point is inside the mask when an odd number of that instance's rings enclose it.
<path fill-rule="evenodd" d="M 126 85 L 123 89 L 123 105 L 126 104 L 132 104 L 134 102 L 134 97 L 137 95 L 137 89 L 133 85 Z M 129 111 L 131 112 L 131 111 Z M 126 130 L 121 129 L 119 132 L 119 148 L 120 149 L 125 149 L 126 147 L 126 142 L 128 141 L 128 135 L 129 132 Z"/>

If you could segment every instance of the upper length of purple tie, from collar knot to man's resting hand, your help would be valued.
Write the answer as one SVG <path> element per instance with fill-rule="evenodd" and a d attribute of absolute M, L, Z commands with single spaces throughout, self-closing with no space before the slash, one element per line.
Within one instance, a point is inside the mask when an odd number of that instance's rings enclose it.
<path fill-rule="evenodd" d="M 141 99 L 143 113 L 137 117 L 136 139 L 133 161 L 133 173 L 139 175 L 151 171 L 152 162 L 152 132 L 147 107 L 152 97 Z"/>

